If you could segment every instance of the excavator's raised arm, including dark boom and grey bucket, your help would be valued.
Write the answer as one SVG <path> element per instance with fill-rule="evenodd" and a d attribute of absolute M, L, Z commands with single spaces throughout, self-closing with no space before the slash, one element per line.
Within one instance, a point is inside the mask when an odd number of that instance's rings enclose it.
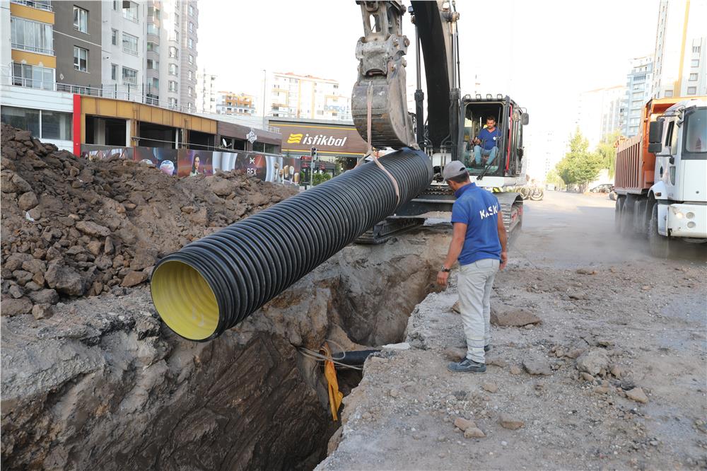
<path fill-rule="evenodd" d="M 402 33 L 405 7 L 401 1 L 357 1 L 361 6 L 363 37 L 356 45 L 358 79 L 351 96 L 351 114 L 358 133 L 375 147 L 452 149 L 457 139 L 459 111 L 455 33 L 458 13 L 449 1 L 412 1 L 416 26 L 417 91 L 415 136 L 407 110 L 407 48 Z M 424 57 L 428 95 L 428 125 L 421 116 L 421 64 Z M 426 134 L 426 135 L 425 135 Z"/>

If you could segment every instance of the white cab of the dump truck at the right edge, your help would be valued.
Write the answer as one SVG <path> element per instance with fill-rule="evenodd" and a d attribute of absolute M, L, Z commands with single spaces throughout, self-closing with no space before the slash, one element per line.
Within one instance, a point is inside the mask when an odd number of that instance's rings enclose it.
<path fill-rule="evenodd" d="M 650 123 L 648 151 L 655 153 L 657 232 L 707 240 L 707 102 L 684 100 Z"/>

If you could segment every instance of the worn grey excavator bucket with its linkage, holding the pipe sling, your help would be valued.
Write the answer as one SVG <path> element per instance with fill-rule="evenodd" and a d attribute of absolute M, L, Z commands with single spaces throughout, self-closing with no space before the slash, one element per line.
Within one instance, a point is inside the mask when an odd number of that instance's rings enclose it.
<path fill-rule="evenodd" d="M 373 147 L 417 148 L 407 112 L 404 58 L 410 41 L 402 35 L 400 1 L 357 1 L 363 37 L 356 45 L 358 80 L 351 115 L 358 134 Z"/>

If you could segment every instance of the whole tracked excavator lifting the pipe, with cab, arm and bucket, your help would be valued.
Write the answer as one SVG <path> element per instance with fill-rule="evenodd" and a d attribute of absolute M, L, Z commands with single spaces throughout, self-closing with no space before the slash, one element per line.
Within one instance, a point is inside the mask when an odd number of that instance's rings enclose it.
<path fill-rule="evenodd" d="M 395 233 L 423 223 L 425 216 L 451 211 L 454 196 L 441 178 L 445 163 L 463 161 L 472 181 L 496 192 L 506 231 L 522 226 L 523 198 L 505 191 L 525 185 L 523 127 L 529 116 L 507 95 L 462 95 L 455 1 L 356 1 L 361 7 L 363 36 L 356 45 L 358 79 L 351 95 L 351 114 L 358 133 L 370 146 L 421 149 L 433 161 L 433 182 L 394 216 L 375 224 L 358 242 L 380 243 Z M 407 110 L 406 70 L 410 40 L 402 33 L 409 12 L 415 28 L 415 111 Z M 422 64 L 427 83 L 427 116 L 422 91 Z M 496 118 L 501 132 L 496 158 L 477 164 L 473 139 L 486 117 Z"/>

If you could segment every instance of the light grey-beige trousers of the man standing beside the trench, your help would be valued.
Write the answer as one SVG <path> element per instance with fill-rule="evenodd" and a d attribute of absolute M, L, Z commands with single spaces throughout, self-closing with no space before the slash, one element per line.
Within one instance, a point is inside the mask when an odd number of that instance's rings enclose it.
<path fill-rule="evenodd" d="M 467 359 L 485 363 L 484 346 L 491 342 L 491 288 L 500 262 L 492 258 L 462 265 L 457 286 L 467 337 Z"/>

